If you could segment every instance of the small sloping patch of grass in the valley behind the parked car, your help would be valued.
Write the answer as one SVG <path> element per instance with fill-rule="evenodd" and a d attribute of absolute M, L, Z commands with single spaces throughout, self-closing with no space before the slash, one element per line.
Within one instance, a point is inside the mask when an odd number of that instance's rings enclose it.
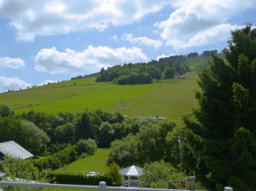
<path fill-rule="evenodd" d="M 93 156 L 88 158 L 81 158 L 70 165 L 59 168 L 55 173 L 73 173 L 73 174 L 87 174 L 91 171 L 107 173 L 106 160 L 108 158 L 109 149 L 97 149 Z"/>

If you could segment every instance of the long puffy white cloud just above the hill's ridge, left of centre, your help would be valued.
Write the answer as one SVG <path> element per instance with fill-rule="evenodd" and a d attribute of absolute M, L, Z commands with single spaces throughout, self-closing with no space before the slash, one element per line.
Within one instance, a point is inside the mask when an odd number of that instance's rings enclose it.
<path fill-rule="evenodd" d="M 124 62 L 147 62 L 148 58 L 140 48 L 109 48 L 88 46 L 76 52 L 65 49 L 59 52 L 56 48 L 43 48 L 35 56 L 35 70 L 41 72 L 88 74 L 98 72 Z"/>

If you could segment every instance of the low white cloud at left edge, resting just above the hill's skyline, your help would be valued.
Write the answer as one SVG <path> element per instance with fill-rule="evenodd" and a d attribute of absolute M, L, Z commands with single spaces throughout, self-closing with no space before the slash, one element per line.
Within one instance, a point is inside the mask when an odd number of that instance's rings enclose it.
<path fill-rule="evenodd" d="M 19 90 L 31 86 L 19 79 L 19 77 L 0 77 L 0 92 L 6 92 L 8 90 Z"/>

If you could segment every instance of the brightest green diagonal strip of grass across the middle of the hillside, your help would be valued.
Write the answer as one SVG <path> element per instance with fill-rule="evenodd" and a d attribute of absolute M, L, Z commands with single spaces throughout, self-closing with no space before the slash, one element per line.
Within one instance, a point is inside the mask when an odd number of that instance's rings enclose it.
<path fill-rule="evenodd" d="M 95 87 L 95 85 L 100 84 L 94 84 L 92 86 Z M 160 85 L 161 83 L 136 85 L 104 84 L 99 88 L 94 88 L 92 91 L 79 93 L 71 97 L 58 99 L 35 107 L 15 109 L 15 112 L 22 113 L 33 109 L 34 111 L 51 114 L 58 112 L 77 113 L 83 112 L 86 109 L 107 109 L 117 106 L 120 102 L 121 95 L 123 95 L 123 101 L 129 101 L 147 92 L 151 92 Z"/>

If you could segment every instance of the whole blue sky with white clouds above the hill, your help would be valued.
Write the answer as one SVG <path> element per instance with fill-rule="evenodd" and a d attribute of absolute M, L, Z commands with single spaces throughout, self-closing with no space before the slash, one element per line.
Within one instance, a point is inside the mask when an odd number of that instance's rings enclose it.
<path fill-rule="evenodd" d="M 0 92 L 221 52 L 255 18 L 256 0 L 0 0 Z"/>

